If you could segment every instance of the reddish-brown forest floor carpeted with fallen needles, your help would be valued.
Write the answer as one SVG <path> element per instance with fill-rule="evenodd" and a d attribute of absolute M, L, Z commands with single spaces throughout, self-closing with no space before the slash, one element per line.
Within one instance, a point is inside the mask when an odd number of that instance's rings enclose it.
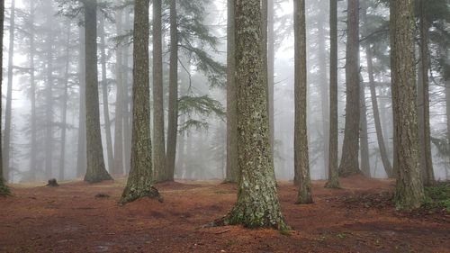
<path fill-rule="evenodd" d="M 353 176 L 341 179 L 342 189 L 324 183 L 313 182 L 308 205 L 294 204 L 292 183 L 279 183 L 289 234 L 202 228 L 236 200 L 236 185 L 218 180 L 157 184 L 163 203 L 125 206 L 116 204 L 124 179 L 11 185 L 14 196 L 0 197 L 0 252 L 450 252 L 448 213 L 396 212 L 392 180 Z"/>

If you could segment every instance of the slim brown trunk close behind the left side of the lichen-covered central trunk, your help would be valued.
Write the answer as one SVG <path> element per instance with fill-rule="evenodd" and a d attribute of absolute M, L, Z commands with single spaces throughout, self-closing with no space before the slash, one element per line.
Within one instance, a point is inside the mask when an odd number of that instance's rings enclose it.
<path fill-rule="evenodd" d="M 228 0 L 227 21 L 227 176 L 226 182 L 238 182 L 238 120 L 236 93 L 235 0 Z"/>

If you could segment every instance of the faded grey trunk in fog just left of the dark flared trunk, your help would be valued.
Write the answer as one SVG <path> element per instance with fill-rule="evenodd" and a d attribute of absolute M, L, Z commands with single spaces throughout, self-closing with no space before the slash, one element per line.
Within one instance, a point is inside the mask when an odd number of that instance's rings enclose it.
<path fill-rule="evenodd" d="M 86 158 L 86 135 L 85 135 L 85 29 L 80 26 L 80 54 L 79 54 L 79 95 L 80 107 L 78 115 L 78 141 L 76 155 L 76 176 L 84 176 L 87 167 Z"/>

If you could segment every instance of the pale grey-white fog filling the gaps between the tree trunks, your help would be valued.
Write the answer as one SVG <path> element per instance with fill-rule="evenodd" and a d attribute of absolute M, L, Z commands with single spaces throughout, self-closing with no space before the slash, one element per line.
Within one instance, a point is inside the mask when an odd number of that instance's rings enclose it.
<path fill-rule="evenodd" d="M 67 1 L 66 1 L 67 2 Z M 314 0 L 307 2 L 307 64 L 308 64 L 308 138 L 312 179 L 326 179 L 328 176 L 329 143 L 329 1 Z M 338 1 L 338 126 L 339 150 L 342 148 L 345 124 L 346 103 L 346 5 L 347 1 Z M 378 4 L 379 1 L 365 2 L 370 22 L 360 22 L 360 74 L 361 87 L 364 88 L 366 104 L 367 139 L 370 155 L 370 171 L 373 177 L 386 177 L 377 133 L 374 126 L 374 111 L 369 89 L 367 60 L 364 41 L 374 43 L 374 81 L 382 122 L 383 138 L 388 157 L 392 161 L 392 98 L 389 67 L 389 33 L 385 23 L 389 21 L 389 8 Z M 100 99 L 100 119 L 103 140 L 103 156 L 107 169 L 111 172 L 111 156 L 115 141 L 122 142 L 121 152 L 124 166 L 119 170 L 121 176 L 129 170 L 130 150 L 130 95 L 132 85 L 132 43 L 130 34 L 133 22 L 132 6 L 117 7 L 116 1 L 105 1 L 102 11 L 97 14 L 98 44 L 98 80 Z M 192 36 L 194 49 L 202 50 L 217 64 L 225 68 L 227 59 L 227 3 L 225 1 L 195 1 L 202 5 L 204 17 L 201 20 L 202 35 Z M 32 4 L 32 5 L 31 5 Z M 65 1 L 53 0 L 16 0 L 14 10 L 14 29 L 12 25 L 12 2 L 5 1 L 4 23 L 4 86 L 2 104 L 2 122 L 7 122 L 8 105 L 11 99 L 11 131 L 2 125 L 4 135 L 8 135 L 9 145 L 4 144 L 3 154 L 8 156 L 4 171 L 9 182 L 46 181 L 49 177 L 58 180 L 71 180 L 83 176 L 85 158 L 80 154 L 80 140 L 85 140 L 80 130 L 80 115 L 84 117 L 80 106 L 83 86 L 82 15 L 70 13 Z M 72 6 L 73 7 L 73 6 Z M 150 14 L 151 14 L 150 5 Z M 169 82 L 169 45 L 168 5 L 163 5 L 163 80 L 165 127 L 167 128 L 168 82 Z M 182 7 L 180 7 L 182 8 Z M 121 11 L 123 28 L 117 32 L 117 12 Z M 105 15 L 106 14 L 106 15 Z M 192 17 L 189 10 L 180 9 L 180 16 Z M 362 15 L 362 14 L 360 14 Z M 277 179 L 293 179 L 293 2 L 275 0 L 274 12 L 274 163 Z M 186 18 L 187 19 L 187 18 Z M 269 18 L 269 21 L 271 19 Z M 104 24 L 104 45 L 101 22 Z M 183 30 L 184 20 L 180 21 Z M 150 27 L 152 21 L 150 16 Z M 447 27 L 448 29 L 448 27 Z M 14 43 L 10 44 L 12 32 Z M 183 30 L 184 31 L 184 30 Z M 182 32 L 183 32 L 182 31 Z M 194 31 L 199 32 L 199 31 Z M 151 33 L 150 33 L 151 34 Z M 370 36 L 368 36 L 370 35 Z M 31 39 L 32 38 L 32 39 Z M 202 41 L 204 38 L 215 41 Z M 211 39 L 212 38 L 212 39 Z M 190 41 L 190 42 L 192 42 Z M 269 39 L 269 41 L 271 41 Z M 183 44 L 184 41 L 181 41 Z M 14 50 L 10 45 L 14 45 Z M 104 48 L 104 57 L 102 49 Z M 122 138 L 114 136 L 116 124 L 117 99 L 117 54 L 123 53 L 124 99 L 128 122 L 121 125 Z M 270 48 L 270 47 L 269 47 Z M 446 146 L 447 107 L 446 80 L 440 71 L 439 56 L 442 53 L 437 41 L 430 41 L 430 126 L 432 154 L 435 175 L 438 180 L 449 178 L 450 157 Z M 151 35 L 149 49 L 152 50 Z M 13 61 L 8 62 L 9 54 L 14 52 Z M 448 50 L 445 51 L 448 56 Z M 34 67 L 31 66 L 31 58 Z M 447 57 L 447 64 L 448 64 Z M 199 59 L 185 48 L 179 50 L 178 93 L 179 97 L 207 97 L 210 106 L 201 110 L 184 108 L 180 105 L 178 117 L 178 136 L 176 146 L 175 179 L 224 178 L 227 162 L 227 124 L 226 76 L 223 69 L 211 68 L 209 59 Z M 205 61 L 207 61 L 205 63 Z M 210 64 L 210 65 L 208 65 Z M 214 66 L 212 64 L 212 66 Z M 204 67 L 206 65 L 207 67 Z M 105 67 L 105 68 L 104 68 Z M 150 52 L 150 68 L 152 59 Z M 105 73 L 103 73 L 105 69 Z M 219 70 L 218 70 L 219 69 Z M 12 75 L 8 75 L 11 72 Z M 151 76 L 151 71 L 150 71 Z M 12 78 L 12 79 L 11 79 Z M 12 81 L 11 97 L 8 98 L 8 82 Z M 150 88 L 152 88 L 150 77 Z M 107 92 L 104 95 L 104 91 Z M 150 95 L 152 92 L 150 91 Z M 105 101 L 109 121 L 105 121 Z M 217 104 L 214 102 L 218 102 Z M 153 100 L 152 100 L 153 102 Z M 181 104 L 181 102 L 180 102 Z M 420 104 L 419 104 L 420 105 Z M 205 106 L 202 104 L 201 106 Z M 153 105 L 152 105 L 153 108 Z M 184 109 L 183 109 L 184 108 Z M 81 112 L 81 113 L 80 113 Z M 151 115 L 153 118 L 153 114 Z M 34 120 L 33 120 L 34 119 Z M 153 131 L 153 125 L 152 131 Z M 106 129 L 110 129 L 110 139 Z M 64 131 L 63 131 L 64 130 Z M 65 132 L 65 133 L 64 133 Z M 79 134 L 82 136 L 79 136 Z M 65 136 L 65 137 L 63 137 Z M 5 139 L 5 136 L 4 136 Z M 33 141 L 34 139 L 34 141 Z M 64 148 L 64 149 L 63 149 Z M 61 150 L 63 150 L 61 152 Z M 110 154 L 110 155 L 108 155 Z M 112 154 L 113 155 L 113 154 Z M 340 158 L 340 153 L 339 153 Z M 47 174 L 46 172 L 49 172 Z"/>

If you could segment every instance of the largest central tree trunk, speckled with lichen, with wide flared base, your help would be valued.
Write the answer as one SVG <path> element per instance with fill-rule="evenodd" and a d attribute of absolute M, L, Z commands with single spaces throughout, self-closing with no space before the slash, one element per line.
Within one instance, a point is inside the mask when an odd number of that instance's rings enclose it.
<path fill-rule="evenodd" d="M 287 229 L 275 187 L 261 55 L 261 1 L 235 2 L 238 200 L 216 224 Z"/>

